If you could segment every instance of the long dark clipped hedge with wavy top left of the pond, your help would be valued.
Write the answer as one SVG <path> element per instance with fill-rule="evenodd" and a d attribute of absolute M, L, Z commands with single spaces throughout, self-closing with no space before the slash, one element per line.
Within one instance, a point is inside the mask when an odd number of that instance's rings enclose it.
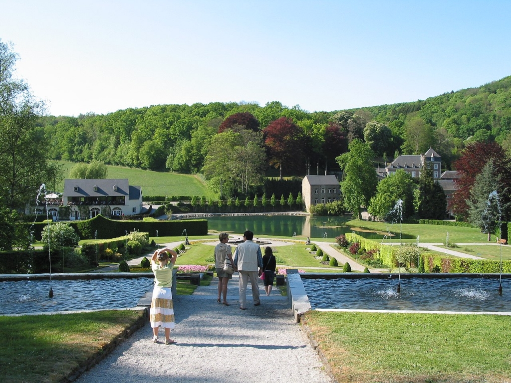
<path fill-rule="evenodd" d="M 207 220 L 182 220 L 182 221 L 131 221 L 131 220 L 110 220 L 103 216 L 96 216 L 90 220 L 69 221 L 81 240 L 94 240 L 95 238 L 108 239 L 120 237 L 138 230 L 149 233 L 150 236 L 178 236 L 184 229 L 188 235 L 206 235 Z M 34 237 L 40 241 L 42 229 L 46 223 L 21 224 L 33 225 Z M 51 223 L 50 223 L 51 225 Z M 96 236 L 97 233 L 97 236 Z"/>

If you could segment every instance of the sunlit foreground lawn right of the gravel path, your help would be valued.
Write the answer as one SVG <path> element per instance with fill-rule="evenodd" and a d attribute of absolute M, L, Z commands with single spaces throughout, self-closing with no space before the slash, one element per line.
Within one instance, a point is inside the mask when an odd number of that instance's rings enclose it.
<path fill-rule="evenodd" d="M 509 382 L 509 317 L 308 312 L 304 323 L 344 382 Z"/>

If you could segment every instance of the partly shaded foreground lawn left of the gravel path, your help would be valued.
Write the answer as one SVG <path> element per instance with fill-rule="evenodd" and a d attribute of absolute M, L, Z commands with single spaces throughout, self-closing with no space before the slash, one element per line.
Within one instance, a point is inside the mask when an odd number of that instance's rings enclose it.
<path fill-rule="evenodd" d="M 0 317 L 2 382 L 67 381 L 145 316 L 142 310 L 107 310 Z"/>

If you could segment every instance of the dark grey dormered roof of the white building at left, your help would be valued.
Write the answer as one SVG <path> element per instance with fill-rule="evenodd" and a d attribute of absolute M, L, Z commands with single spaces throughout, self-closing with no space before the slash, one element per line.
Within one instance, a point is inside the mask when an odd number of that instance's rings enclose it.
<path fill-rule="evenodd" d="M 96 191 L 94 190 L 95 186 L 97 187 Z M 117 190 L 114 189 L 114 186 Z M 76 191 L 75 188 L 77 188 Z M 130 192 L 127 178 L 64 180 L 64 195 L 66 197 L 130 196 L 129 199 L 132 199 Z"/>

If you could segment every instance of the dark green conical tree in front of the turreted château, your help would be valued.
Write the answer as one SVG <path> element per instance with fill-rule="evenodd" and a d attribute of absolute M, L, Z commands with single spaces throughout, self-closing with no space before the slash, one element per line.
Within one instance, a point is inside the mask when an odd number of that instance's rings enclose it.
<path fill-rule="evenodd" d="M 419 187 L 415 190 L 414 204 L 421 219 L 443 220 L 447 215 L 447 197 L 438 181 L 433 179 L 433 170 L 423 167 Z"/>

